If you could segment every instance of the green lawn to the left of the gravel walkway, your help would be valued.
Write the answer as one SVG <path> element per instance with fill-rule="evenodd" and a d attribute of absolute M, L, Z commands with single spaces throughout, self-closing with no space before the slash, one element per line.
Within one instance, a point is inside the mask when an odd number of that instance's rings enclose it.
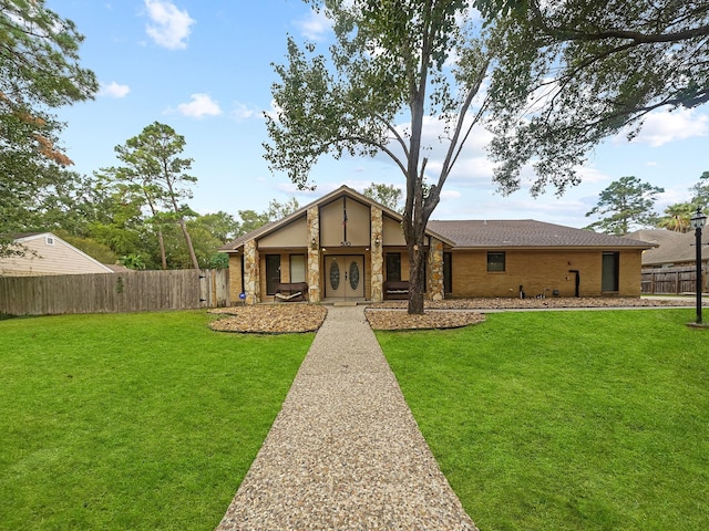
<path fill-rule="evenodd" d="M 210 319 L 0 321 L 0 529 L 216 527 L 314 334 Z"/>

